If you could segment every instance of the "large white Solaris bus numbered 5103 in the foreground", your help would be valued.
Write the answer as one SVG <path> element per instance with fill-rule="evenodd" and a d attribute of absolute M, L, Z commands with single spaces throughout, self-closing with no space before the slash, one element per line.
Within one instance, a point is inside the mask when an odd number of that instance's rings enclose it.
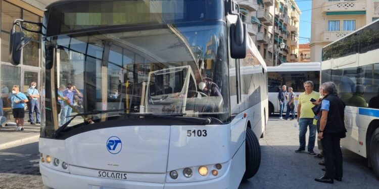
<path fill-rule="evenodd" d="M 238 188 L 254 176 L 268 117 L 267 71 L 238 15 L 238 5 L 220 0 L 59 1 L 46 7 L 36 24 L 46 89 L 43 183 Z M 16 20 L 16 26 L 28 25 Z M 22 36 L 11 32 L 16 65 L 27 42 Z M 83 93 L 73 99 L 80 107 L 58 100 L 65 97 L 58 87 L 67 83 Z M 61 106 L 73 112 L 63 125 Z"/>

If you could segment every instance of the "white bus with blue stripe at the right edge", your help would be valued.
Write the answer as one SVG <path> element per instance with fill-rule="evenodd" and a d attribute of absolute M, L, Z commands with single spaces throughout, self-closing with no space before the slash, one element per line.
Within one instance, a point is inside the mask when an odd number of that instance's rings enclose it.
<path fill-rule="evenodd" d="M 368 160 L 379 178 L 379 22 L 322 50 L 322 83 L 333 81 L 345 102 L 346 138 L 341 145 Z"/>

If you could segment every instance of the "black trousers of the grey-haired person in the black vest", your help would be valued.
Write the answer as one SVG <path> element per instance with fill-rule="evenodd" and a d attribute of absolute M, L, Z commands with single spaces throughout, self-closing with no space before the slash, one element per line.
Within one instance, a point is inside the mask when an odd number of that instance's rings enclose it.
<path fill-rule="evenodd" d="M 323 134 L 321 139 L 322 151 L 325 158 L 325 177 L 342 177 L 342 151 L 340 134 Z"/>

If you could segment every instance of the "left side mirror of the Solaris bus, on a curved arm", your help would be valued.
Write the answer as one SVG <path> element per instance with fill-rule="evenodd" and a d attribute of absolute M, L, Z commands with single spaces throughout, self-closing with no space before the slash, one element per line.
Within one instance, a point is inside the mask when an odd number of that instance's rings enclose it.
<path fill-rule="evenodd" d="M 21 49 L 28 44 L 31 40 L 30 37 L 25 37 L 23 32 L 16 32 L 15 29 L 11 30 L 9 38 L 9 59 L 15 66 L 20 64 Z"/>

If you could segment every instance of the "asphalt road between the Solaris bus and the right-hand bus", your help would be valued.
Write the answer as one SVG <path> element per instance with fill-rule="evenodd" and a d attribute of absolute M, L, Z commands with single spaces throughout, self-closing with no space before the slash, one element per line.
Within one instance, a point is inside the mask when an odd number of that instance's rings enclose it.
<path fill-rule="evenodd" d="M 241 182 L 239 189 L 379 188 L 379 180 L 367 167 L 366 159 L 344 148 L 342 182 L 335 180 L 334 184 L 328 184 L 314 181 L 314 178 L 323 176 L 323 166 L 318 165 L 320 159 L 307 152 L 294 152 L 299 148 L 299 128 L 294 127 L 294 122 L 295 120 L 270 117 L 266 125 L 266 136 L 259 140 L 262 151 L 261 166 L 254 177 Z M 318 152 L 317 143 L 314 151 Z"/>

